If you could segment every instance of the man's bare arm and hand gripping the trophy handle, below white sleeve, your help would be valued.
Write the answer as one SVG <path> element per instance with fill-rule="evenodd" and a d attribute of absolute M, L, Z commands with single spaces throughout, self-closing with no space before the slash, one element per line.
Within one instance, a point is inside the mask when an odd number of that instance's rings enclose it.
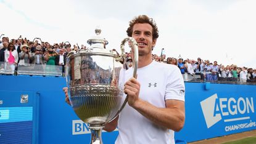
<path fill-rule="evenodd" d="M 179 131 L 184 126 L 185 108 L 184 102 L 181 100 L 166 100 L 166 108 L 157 108 L 139 98 L 139 82 L 131 78 L 125 84 L 125 94 L 128 95 L 128 104 L 150 119 L 158 126 L 166 127 L 175 131 Z"/>

